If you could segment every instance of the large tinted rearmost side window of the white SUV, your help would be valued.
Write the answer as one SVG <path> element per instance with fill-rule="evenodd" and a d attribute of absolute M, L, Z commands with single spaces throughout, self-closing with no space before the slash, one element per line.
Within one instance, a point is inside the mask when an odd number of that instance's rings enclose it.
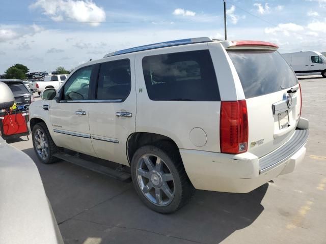
<path fill-rule="evenodd" d="M 142 63 L 151 100 L 221 100 L 209 50 L 146 56 Z"/>

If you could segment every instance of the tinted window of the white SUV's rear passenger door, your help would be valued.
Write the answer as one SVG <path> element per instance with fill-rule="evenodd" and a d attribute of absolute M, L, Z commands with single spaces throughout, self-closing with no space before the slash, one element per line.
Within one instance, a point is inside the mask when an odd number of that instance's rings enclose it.
<path fill-rule="evenodd" d="M 98 100 L 125 100 L 131 88 L 129 59 L 101 64 L 96 98 Z"/>

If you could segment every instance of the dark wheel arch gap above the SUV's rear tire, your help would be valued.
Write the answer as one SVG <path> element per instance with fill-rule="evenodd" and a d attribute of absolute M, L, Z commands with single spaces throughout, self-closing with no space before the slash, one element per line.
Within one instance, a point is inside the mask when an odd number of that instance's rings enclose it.
<path fill-rule="evenodd" d="M 169 142 L 179 152 L 177 143 L 168 136 L 150 132 L 134 132 L 129 135 L 126 143 L 126 153 L 129 165 L 131 165 L 132 157 L 138 148 L 144 145 L 153 145 L 158 141 Z"/>

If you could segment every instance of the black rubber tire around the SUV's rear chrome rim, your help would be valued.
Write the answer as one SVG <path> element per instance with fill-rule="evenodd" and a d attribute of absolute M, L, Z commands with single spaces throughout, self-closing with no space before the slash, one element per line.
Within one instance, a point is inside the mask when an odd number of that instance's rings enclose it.
<path fill-rule="evenodd" d="M 140 187 L 137 165 L 142 157 L 147 154 L 156 155 L 162 161 L 164 161 L 165 165 L 169 168 L 169 171 L 173 176 L 174 197 L 168 205 L 158 206 L 157 204 L 151 202 L 145 196 Z M 195 188 L 184 170 L 178 149 L 166 141 L 159 142 L 155 145 L 142 146 L 135 152 L 131 161 L 131 177 L 133 186 L 145 205 L 162 214 L 168 214 L 180 209 L 187 204 L 189 200 L 191 200 L 195 193 Z M 153 187 L 153 189 L 155 188 Z"/>

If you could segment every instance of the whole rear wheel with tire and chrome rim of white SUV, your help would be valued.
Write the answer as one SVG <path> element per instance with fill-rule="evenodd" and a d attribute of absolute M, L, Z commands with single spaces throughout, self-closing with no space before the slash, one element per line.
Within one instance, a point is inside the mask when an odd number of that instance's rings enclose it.
<path fill-rule="evenodd" d="M 179 153 L 169 145 L 139 148 L 132 157 L 131 177 L 141 200 L 165 214 L 185 205 L 195 190 Z"/>

